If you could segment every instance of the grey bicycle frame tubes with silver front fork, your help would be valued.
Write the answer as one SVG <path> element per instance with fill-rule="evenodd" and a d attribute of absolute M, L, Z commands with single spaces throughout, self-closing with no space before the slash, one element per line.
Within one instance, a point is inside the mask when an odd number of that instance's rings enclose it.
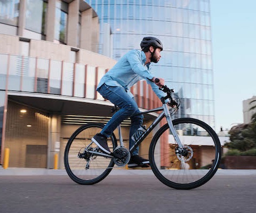
<path fill-rule="evenodd" d="M 164 118 L 166 117 L 166 121 L 167 124 L 169 125 L 169 128 L 172 132 L 172 135 L 174 137 L 174 140 L 177 142 L 178 146 L 179 146 L 179 150 L 183 150 L 183 146 L 180 142 L 179 136 L 177 134 L 176 129 L 174 128 L 173 124 L 172 124 L 172 118 L 171 118 L 171 114 L 169 111 L 169 108 L 167 106 L 166 103 L 163 103 L 163 106 L 160 108 L 156 108 L 156 109 L 152 109 L 152 110 L 147 110 L 145 112 L 140 112 L 139 114 L 147 114 L 150 112 L 157 112 L 157 111 L 163 111 L 159 114 L 159 116 L 154 120 L 154 122 L 148 127 L 148 129 L 146 130 L 145 133 L 143 133 L 137 142 L 135 142 L 135 144 L 132 146 L 132 148 L 129 150 L 130 153 L 132 154 L 132 152 L 142 143 L 142 141 L 148 136 L 148 134 L 156 127 L 156 125 Z M 120 142 L 120 146 L 124 147 L 124 142 L 123 142 L 123 137 L 122 137 L 122 133 L 121 133 L 121 125 L 118 125 L 118 135 L 119 135 L 119 142 Z M 90 146 L 90 145 L 89 145 Z M 109 157 L 109 158 L 113 158 L 113 155 L 109 155 L 109 154 L 105 154 L 105 153 L 98 153 L 98 152 L 94 152 L 94 151 L 89 151 L 90 153 L 93 153 L 95 155 L 99 155 L 99 156 L 104 156 L 104 157 Z"/>

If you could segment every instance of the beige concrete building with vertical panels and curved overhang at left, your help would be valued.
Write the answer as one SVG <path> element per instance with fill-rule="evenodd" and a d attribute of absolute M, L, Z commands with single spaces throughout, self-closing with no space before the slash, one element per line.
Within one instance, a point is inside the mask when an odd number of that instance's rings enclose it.
<path fill-rule="evenodd" d="M 116 61 L 98 47 L 98 15 L 82 0 L 0 1 L 1 162 L 9 148 L 10 167 L 52 168 L 59 153 L 63 168 L 74 130 L 91 116 L 106 123 L 113 104 L 95 88 Z M 141 86 L 139 106 L 159 105 Z"/>

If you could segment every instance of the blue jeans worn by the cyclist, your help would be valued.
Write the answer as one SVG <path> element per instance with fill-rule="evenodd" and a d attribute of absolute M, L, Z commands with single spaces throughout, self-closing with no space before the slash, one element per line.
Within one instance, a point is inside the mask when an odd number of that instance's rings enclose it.
<path fill-rule="evenodd" d="M 118 127 L 119 124 L 126 118 L 131 118 L 131 128 L 129 136 L 129 149 L 134 145 L 134 141 L 131 140 L 132 135 L 137 131 L 137 129 L 142 125 L 143 116 L 142 114 L 138 116 L 133 116 L 140 112 L 137 103 L 134 98 L 128 95 L 123 87 L 118 86 L 108 86 L 103 84 L 98 92 L 110 102 L 118 106 L 118 110 L 113 117 L 108 121 L 106 126 L 101 130 L 101 134 L 109 137 L 111 133 Z M 139 153 L 139 147 L 134 150 L 132 155 L 137 155 Z"/>

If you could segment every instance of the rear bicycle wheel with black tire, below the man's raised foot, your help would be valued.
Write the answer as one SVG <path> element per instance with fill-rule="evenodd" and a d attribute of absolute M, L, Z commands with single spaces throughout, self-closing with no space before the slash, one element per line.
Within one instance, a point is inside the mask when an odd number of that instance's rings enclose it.
<path fill-rule="evenodd" d="M 115 163 L 113 158 L 94 156 L 89 169 L 85 169 L 87 161 L 77 157 L 80 150 L 84 150 L 92 141 L 91 138 L 100 132 L 103 124 L 87 124 L 79 127 L 68 140 L 64 153 L 64 164 L 68 176 L 76 183 L 92 185 L 102 181 L 110 173 Z M 91 145 L 97 148 L 94 143 Z M 116 148 L 117 141 L 114 134 L 108 138 L 108 146 L 111 152 Z"/>

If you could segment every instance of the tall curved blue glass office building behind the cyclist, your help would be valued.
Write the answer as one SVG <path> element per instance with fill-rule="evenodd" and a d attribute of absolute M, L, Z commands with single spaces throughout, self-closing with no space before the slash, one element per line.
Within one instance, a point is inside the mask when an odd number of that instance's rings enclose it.
<path fill-rule="evenodd" d="M 162 58 L 154 64 L 182 100 L 178 117 L 193 117 L 214 127 L 210 0 L 86 0 L 101 24 L 99 53 L 103 54 L 104 24 L 111 27 L 112 58 L 140 49 L 145 36 L 159 38 Z"/>

